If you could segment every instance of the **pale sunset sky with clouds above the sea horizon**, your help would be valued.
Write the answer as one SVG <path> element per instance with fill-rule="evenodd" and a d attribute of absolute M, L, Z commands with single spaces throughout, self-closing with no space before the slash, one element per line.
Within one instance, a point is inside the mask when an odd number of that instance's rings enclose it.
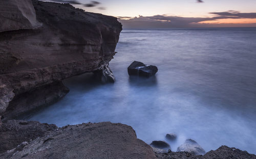
<path fill-rule="evenodd" d="M 50 1 L 118 17 L 127 29 L 256 27 L 256 0 Z"/>

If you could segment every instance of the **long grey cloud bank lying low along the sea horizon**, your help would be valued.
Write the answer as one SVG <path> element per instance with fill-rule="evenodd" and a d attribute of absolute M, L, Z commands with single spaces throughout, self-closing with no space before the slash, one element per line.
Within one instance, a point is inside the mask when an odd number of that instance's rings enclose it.
<path fill-rule="evenodd" d="M 239 11 L 211 12 L 214 17 L 180 17 L 180 16 L 139 16 L 139 17 L 117 17 L 124 28 L 193 28 L 214 26 L 216 24 L 203 24 L 204 21 L 215 21 L 220 19 L 244 19 L 256 18 L 256 13 L 241 13 Z M 255 19 L 256 23 L 256 19 Z M 252 24 L 250 24 L 252 25 Z M 224 24 L 223 24 L 224 26 Z M 256 26 L 254 24 L 253 26 Z"/>

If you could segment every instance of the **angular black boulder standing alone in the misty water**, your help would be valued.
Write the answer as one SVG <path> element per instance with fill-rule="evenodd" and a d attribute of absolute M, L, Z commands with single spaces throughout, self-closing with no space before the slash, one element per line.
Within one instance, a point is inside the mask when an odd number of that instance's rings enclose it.
<path fill-rule="evenodd" d="M 129 75 L 139 75 L 145 77 L 153 76 L 158 71 L 156 66 L 148 66 L 138 61 L 134 61 L 127 69 Z"/>

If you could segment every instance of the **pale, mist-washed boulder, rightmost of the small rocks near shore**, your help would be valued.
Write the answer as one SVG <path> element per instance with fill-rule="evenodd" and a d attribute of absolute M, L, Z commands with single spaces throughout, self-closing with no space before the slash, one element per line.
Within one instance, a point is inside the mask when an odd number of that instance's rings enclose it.
<path fill-rule="evenodd" d="M 194 154 L 205 154 L 205 150 L 192 139 L 187 139 L 184 144 L 177 148 L 177 151 L 187 151 Z"/>

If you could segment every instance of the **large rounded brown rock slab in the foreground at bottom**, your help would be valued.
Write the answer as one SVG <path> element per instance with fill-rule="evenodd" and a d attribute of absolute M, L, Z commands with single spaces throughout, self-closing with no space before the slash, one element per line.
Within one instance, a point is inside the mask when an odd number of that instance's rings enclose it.
<path fill-rule="evenodd" d="M 110 122 L 65 126 L 0 158 L 156 158 L 131 126 Z"/>

